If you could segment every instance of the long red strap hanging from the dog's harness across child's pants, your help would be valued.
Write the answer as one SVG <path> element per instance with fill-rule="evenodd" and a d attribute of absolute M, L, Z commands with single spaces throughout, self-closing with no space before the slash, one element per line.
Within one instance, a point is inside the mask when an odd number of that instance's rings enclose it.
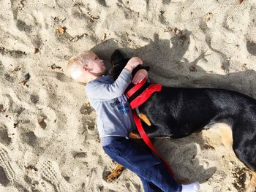
<path fill-rule="evenodd" d="M 165 159 L 162 158 L 161 155 L 159 155 L 159 153 L 157 153 L 157 150 L 154 148 L 154 145 L 152 144 L 151 140 L 148 138 L 146 132 L 144 131 L 143 126 L 140 122 L 140 118 L 138 117 L 138 115 L 136 114 L 136 112 L 134 110 L 132 112 L 133 112 L 132 115 L 133 115 L 133 118 L 135 120 L 135 124 L 138 128 L 138 131 L 139 131 L 140 136 L 142 137 L 143 141 L 146 142 L 146 145 L 148 145 L 148 147 L 163 161 L 163 163 L 165 164 L 168 172 L 173 176 L 174 174 L 173 174 L 172 169 L 170 169 L 169 164 L 167 164 Z"/>

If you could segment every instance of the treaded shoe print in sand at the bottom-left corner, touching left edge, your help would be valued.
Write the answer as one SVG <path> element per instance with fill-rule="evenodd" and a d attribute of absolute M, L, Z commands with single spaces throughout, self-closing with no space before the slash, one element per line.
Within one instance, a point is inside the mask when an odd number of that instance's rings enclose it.
<path fill-rule="evenodd" d="M 23 172 L 20 172 L 18 165 L 15 165 L 10 158 L 7 147 L 0 143 L 0 166 L 4 169 L 4 174 L 13 185 L 31 191 L 29 185 L 23 180 Z"/>

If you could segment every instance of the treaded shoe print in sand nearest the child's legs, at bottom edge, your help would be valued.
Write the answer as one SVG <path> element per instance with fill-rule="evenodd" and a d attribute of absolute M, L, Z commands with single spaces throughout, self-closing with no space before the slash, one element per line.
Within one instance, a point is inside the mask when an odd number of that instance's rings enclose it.
<path fill-rule="evenodd" d="M 72 192 L 71 185 L 62 177 L 56 162 L 45 159 L 39 163 L 39 172 L 42 178 L 50 182 L 57 192 Z"/>

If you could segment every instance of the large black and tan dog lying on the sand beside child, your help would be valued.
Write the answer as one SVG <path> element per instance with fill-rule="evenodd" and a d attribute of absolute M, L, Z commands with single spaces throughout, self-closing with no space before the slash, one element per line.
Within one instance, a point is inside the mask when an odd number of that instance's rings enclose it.
<path fill-rule="evenodd" d="M 113 64 L 111 74 L 116 79 L 129 59 L 124 58 L 124 55 L 116 50 L 111 60 Z M 139 66 L 135 72 L 141 67 L 143 66 Z M 132 86 L 131 83 L 127 89 Z M 252 180 L 247 191 L 255 189 L 255 99 L 235 91 L 217 88 L 171 88 L 163 86 L 161 92 L 153 93 L 138 108 L 151 123 L 151 126 L 148 126 L 148 123 L 143 123 L 148 137 L 151 138 L 187 137 L 195 131 L 209 128 L 214 123 L 227 123 L 230 130 L 223 131 L 224 145 L 233 147 L 238 159 L 252 171 Z M 138 131 L 132 131 L 129 137 L 140 139 Z"/>

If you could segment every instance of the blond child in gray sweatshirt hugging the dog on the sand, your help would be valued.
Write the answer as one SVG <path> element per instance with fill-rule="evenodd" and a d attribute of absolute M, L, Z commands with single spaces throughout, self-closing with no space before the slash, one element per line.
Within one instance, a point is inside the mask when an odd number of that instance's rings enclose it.
<path fill-rule="evenodd" d="M 87 82 L 86 95 L 97 113 L 97 128 L 102 147 L 110 158 L 135 172 L 140 177 L 144 191 L 197 192 L 199 183 L 181 185 L 173 179 L 165 164 L 151 150 L 128 139 L 135 128 L 132 110 L 124 91 L 130 82 L 141 82 L 148 76 L 140 69 L 132 80 L 132 70 L 143 64 L 140 58 L 131 58 L 117 80 L 105 75 L 106 68 L 93 52 L 80 53 L 69 59 L 70 76 L 79 82 Z"/>

